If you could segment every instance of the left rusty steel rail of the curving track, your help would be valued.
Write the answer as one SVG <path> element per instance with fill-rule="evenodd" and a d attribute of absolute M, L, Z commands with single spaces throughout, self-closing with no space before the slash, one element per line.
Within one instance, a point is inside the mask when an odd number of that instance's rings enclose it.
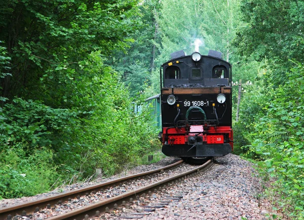
<path fill-rule="evenodd" d="M 138 174 L 134 174 L 134 175 L 130 175 L 130 176 L 121 177 L 121 178 L 110 180 L 110 181 L 103 182 L 103 183 L 100 183 L 100 184 L 84 187 L 84 188 L 81 188 L 79 190 L 74 190 L 74 191 L 71 191 L 71 192 L 68 192 L 68 193 L 58 194 L 58 195 L 51 196 L 51 197 L 48 197 L 48 198 L 39 199 L 39 200 L 31 201 L 31 202 L 25 202 L 25 203 L 21 203 L 21 204 L 18 204 L 18 205 L 3 207 L 3 208 L 0 208 L 0 219 L 6 219 L 8 215 L 14 216 L 17 213 L 21 214 L 22 211 L 26 211 L 27 214 L 32 213 L 32 212 L 34 212 L 36 207 L 44 208 L 48 204 L 50 204 L 51 206 L 54 206 L 55 204 L 57 204 L 57 202 L 59 200 L 61 202 L 68 201 L 69 198 L 74 198 L 74 197 L 77 197 L 77 196 L 83 196 L 83 195 L 85 195 L 87 193 L 91 193 L 93 191 L 99 191 L 102 187 L 109 186 L 109 185 L 112 185 L 114 183 L 119 184 L 119 183 L 121 183 L 125 180 L 130 180 L 130 179 L 134 179 L 134 178 L 139 177 L 139 176 L 144 176 L 144 175 L 148 175 L 148 174 L 161 172 L 163 170 L 166 170 L 166 169 L 172 168 L 174 166 L 177 166 L 181 163 L 183 163 L 183 160 L 180 160 L 178 162 L 170 164 L 166 167 L 162 167 L 162 168 L 159 168 L 159 169 L 155 169 L 155 170 L 151 170 L 151 171 L 147 171 L 147 172 L 143 172 L 143 173 L 138 173 Z"/>

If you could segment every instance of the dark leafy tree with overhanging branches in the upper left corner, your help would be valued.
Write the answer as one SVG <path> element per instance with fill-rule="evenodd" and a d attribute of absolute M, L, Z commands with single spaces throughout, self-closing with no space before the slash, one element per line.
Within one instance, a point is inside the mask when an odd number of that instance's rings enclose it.
<path fill-rule="evenodd" d="M 109 55 L 113 48 L 125 48 L 138 23 L 136 5 L 136 0 L 6 1 L 0 39 L 13 65 L 12 76 L 0 81 L 3 96 L 43 100 L 54 107 L 79 105 L 73 97 L 86 75 L 86 57 L 97 49 Z"/>

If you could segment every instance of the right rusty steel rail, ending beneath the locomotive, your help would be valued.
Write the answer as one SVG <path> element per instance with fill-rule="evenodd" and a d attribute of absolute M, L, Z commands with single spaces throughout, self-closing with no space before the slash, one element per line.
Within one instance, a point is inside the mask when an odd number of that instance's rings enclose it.
<path fill-rule="evenodd" d="M 85 218 L 85 215 L 96 216 L 95 215 L 96 211 L 104 212 L 106 206 L 113 206 L 114 203 L 122 202 L 123 199 L 126 200 L 128 198 L 136 197 L 136 195 L 138 195 L 139 193 L 143 193 L 143 192 L 146 192 L 146 191 L 151 191 L 151 189 L 156 188 L 156 187 L 161 186 L 161 185 L 164 185 L 168 182 L 171 182 L 172 180 L 179 179 L 183 176 L 187 176 L 189 174 L 192 174 L 192 173 L 206 167 L 210 163 L 211 163 L 211 160 L 208 160 L 203 165 L 198 166 L 195 169 L 192 169 L 190 171 L 186 171 L 186 172 L 178 174 L 176 176 L 172 176 L 172 177 L 163 179 L 161 181 L 158 181 L 158 182 L 146 185 L 144 187 L 138 188 L 137 190 L 130 191 L 130 192 L 121 194 L 119 196 L 112 197 L 110 199 L 106 199 L 106 200 L 94 203 L 92 205 L 88 205 L 88 206 L 80 208 L 80 209 L 75 209 L 73 211 L 69 211 L 69 212 L 66 212 L 64 214 L 56 215 L 56 216 L 53 216 L 53 217 L 50 217 L 50 218 L 47 218 L 47 219 L 48 220 L 73 220 L 73 219 L 82 220 L 82 219 Z"/>

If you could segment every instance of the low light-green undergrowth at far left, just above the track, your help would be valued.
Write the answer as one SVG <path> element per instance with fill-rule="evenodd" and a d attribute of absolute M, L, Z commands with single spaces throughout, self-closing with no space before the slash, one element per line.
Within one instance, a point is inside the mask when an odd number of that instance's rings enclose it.
<path fill-rule="evenodd" d="M 59 178 L 52 163 L 53 153 L 46 148 L 34 150 L 26 157 L 24 146 L 1 149 L 0 199 L 33 196 L 50 190 Z"/>

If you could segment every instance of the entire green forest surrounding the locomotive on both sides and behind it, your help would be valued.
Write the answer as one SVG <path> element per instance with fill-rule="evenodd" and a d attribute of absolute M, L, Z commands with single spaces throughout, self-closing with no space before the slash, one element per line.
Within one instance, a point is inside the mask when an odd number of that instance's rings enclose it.
<path fill-rule="evenodd" d="M 170 53 L 223 53 L 244 85 L 235 153 L 303 219 L 304 2 L 1 0 L 0 198 L 136 164 L 159 149 L 148 109 Z M 237 86 L 234 86 L 234 117 Z M 70 163 L 70 162 L 73 163 Z M 275 189 L 275 190 L 273 190 Z M 279 190 L 278 190 L 279 189 Z"/>

